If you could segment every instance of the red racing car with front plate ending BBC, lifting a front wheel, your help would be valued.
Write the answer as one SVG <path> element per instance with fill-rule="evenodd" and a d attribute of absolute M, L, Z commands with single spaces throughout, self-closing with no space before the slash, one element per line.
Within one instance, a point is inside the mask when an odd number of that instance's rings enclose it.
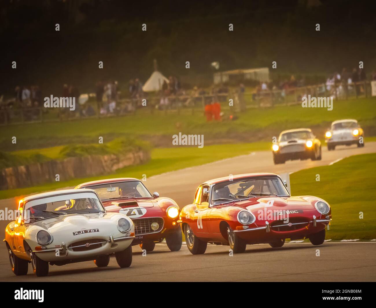
<path fill-rule="evenodd" d="M 286 238 L 309 238 L 320 245 L 331 218 L 323 199 L 291 197 L 277 174 L 250 173 L 200 185 L 179 222 L 188 249 L 196 255 L 208 243 L 229 245 L 234 253 L 244 252 L 247 244 L 282 247 Z"/>

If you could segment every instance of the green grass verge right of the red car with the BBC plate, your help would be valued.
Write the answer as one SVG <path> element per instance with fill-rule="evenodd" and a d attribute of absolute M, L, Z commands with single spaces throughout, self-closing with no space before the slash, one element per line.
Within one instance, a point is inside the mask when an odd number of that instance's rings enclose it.
<path fill-rule="evenodd" d="M 376 153 L 301 170 L 290 176 L 291 193 L 318 196 L 329 203 L 333 221 L 326 232 L 327 239 L 371 240 L 376 238 L 376 182 L 372 170 L 376 170 Z M 316 181 L 317 174 L 320 181 Z"/>

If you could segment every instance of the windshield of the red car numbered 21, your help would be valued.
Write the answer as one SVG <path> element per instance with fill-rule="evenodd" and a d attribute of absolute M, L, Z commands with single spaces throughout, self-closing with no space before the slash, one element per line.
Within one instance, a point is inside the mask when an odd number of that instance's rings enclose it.
<path fill-rule="evenodd" d="M 152 198 L 152 195 L 140 181 L 106 183 L 86 188 L 94 189 L 101 200 L 118 198 Z"/>

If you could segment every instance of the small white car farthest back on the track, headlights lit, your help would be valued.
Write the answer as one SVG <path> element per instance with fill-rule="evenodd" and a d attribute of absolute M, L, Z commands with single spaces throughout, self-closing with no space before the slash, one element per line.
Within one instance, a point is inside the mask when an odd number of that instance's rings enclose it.
<path fill-rule="evenodd" d="M 325 133 L 325 142 L 329 151 L 334 150 L 335 146 L 343 145 L 356 144 L 358 147 L 364 147 L 364 131 L 356 120 L 337 120 Z"/>

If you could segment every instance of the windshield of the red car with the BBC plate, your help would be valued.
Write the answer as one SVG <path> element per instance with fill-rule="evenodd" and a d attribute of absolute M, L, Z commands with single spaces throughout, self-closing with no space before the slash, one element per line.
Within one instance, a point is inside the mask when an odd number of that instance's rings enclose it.
<path fill-rule="evenodd" d="M 268 195 L 289 196 L 289 193 L 277 176 L 241 179 L 215 184 L 212 188 L 211 203 L 215 205 L 226 202 L 223 199 L 240 200 Z M 215 201 L 216 199 L 220 200 Z"/>

